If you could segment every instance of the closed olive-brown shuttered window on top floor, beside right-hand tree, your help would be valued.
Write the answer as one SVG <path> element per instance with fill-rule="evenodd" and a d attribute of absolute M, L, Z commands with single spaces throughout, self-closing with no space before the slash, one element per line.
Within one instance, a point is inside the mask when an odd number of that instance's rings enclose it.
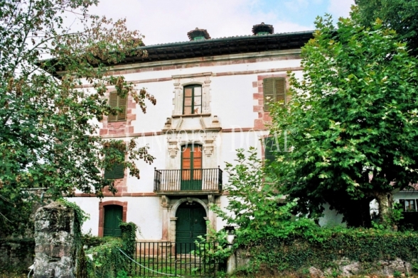
<path fill-rule="evenodd" d="M 269 102 L 286 104 L 286 79 L 284 77 L 263 80 L 264 111 L 268 111 Z"/>

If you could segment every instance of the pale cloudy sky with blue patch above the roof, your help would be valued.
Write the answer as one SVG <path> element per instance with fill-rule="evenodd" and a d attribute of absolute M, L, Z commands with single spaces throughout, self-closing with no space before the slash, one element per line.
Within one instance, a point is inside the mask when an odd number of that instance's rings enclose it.
<path fill-rule="evenodd" d="M 187 41 L 195 28 L 211 38 L 251 35 L 254 24 L 272 24 L 274 33 L 314 30 L 316 16 L 348 16 L 354 0 L 100 0 L 90 9 L 107 18 L 127 18 L 145 45 Z"/>

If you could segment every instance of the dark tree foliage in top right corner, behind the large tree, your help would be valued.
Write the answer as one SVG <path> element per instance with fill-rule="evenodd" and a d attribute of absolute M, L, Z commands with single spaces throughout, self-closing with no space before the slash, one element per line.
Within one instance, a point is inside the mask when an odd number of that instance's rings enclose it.
<path fill-rule="evenodd" d="M 360 22 L 371 27 L 380 18 L 387 28 L 407 42 L 413 55 L 418 55 L 418 1 L 415 0 L 355 0 L 360 12 Z"/>

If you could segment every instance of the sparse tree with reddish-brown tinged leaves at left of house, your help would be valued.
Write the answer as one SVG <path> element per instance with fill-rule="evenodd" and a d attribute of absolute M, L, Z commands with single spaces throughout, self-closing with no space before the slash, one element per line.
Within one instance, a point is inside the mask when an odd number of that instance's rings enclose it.
<path fill-rule="evenodd" d="M 32 187 L 47 187 L 53 199 L 75 189 L 100 196 L 112 181 L 102 169 L 123 164 L 139 178 L 134 161 L 152 162 L 146 147 L 132 140 L 103 140 L 103 116 L 115 115 L 104 98 L 109 87 L 132 94 L 146 112 L 145 89 L 137 90 L 108 67 L 138 49 L 141 35 L 124 20 L 90 15 L 97 0 L 0 1 L 0 233 L 26 225 Z M 73 16 L 80 30 L 71 30 Z M 86 84 L 88 86 L 86 86 Z M 129 153 L 127 161 L 117 150 Z"/>

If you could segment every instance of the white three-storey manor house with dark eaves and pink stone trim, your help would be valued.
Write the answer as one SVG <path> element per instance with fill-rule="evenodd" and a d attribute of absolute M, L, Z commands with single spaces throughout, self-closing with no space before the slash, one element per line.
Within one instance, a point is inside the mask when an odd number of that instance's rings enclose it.
<path fill-rule="evenodd" d="M 82 227 L 93 235 L 119 235 L 119 221 L 139 226 L 139 240 L 193 242 L 205 235 L 206 221 L 216 230 L 225 226 L 212 204 L 225 207 L 225 162 L 234 162 L 237 148 L 264 148 L 271 118 L 265 99 L 286 101 L 287 71 L 302 77 L 301 47 L 313 31 L 274 33 L 271 25 L 254 25 L 252 35 L 210 38 L 207 30 L 191 30 L 189 41 L 142 47 L 148 57 L 131 57 L 112 67 L 113 74 L 144 87 L 157 99 L 144 114 L 132 96 L 120 99 L 108 88 L 112 106 L 126 113 L 104 117 L 100 135 L 149 144 L 152 165 L 139 161 L 141 179 L 129 172 L 104 173 L 115 179 L 117 194 L 103 199 L 76 194 L 75 201 L 90 214 Z M 397 199 L 416 208 L 411 193 Z M 408 203 L 408 204 L 409 204 Z M 322 222 L 340 221 L 327 211 Z"/>

